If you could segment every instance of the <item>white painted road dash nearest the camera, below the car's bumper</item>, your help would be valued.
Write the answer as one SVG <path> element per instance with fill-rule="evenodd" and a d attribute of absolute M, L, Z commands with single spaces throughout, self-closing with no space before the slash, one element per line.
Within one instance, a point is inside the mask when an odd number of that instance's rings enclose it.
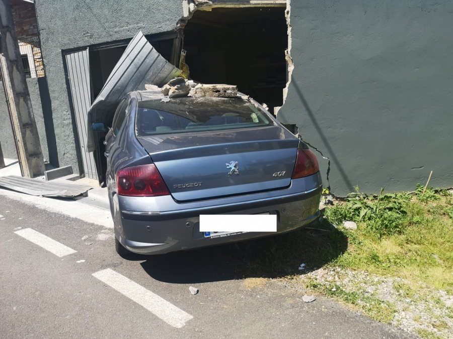
<path fill-rule="evenodd" d="M 184 312 L 159 295 L 148 291 L 143 286 L 109 268 L 93 273 L 93 276 L 143 306 L 173 327 L 181 328 L 186 324 L 186 321 L 193 318 L 189 313 Z"/>

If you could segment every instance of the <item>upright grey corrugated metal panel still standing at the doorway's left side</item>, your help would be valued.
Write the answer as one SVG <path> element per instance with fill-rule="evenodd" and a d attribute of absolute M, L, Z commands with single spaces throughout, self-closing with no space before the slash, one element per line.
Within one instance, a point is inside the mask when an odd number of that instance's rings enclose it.
<path fill-rule="evenodd" d="M 90 63 L 88 49 L 65 53 L 67 77 L 71 88 L 72 107 L 86 177 L 97 179 L 93 153 L 88 152 L 88 110 L 91 105 Z M 90 133 L 91 136 L 91 133 Z"/>

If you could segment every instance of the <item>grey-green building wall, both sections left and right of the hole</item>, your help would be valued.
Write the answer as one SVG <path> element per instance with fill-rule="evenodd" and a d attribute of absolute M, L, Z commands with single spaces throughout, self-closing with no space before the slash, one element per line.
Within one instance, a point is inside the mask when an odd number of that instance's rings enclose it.
<path fill-rule="evenodd" d="M 56 154 L 75 170 L 62 50 L 172 31 L 182 0 L 36 0 L 36 10 Z M 430 170 L 432 185 L 453 186 L 451 1 L 291 0 L 291 26 L 278 119 L 330 159 L 319 157 L 326 186 L 329 172 L 340 196 L 412 190 Z"/>

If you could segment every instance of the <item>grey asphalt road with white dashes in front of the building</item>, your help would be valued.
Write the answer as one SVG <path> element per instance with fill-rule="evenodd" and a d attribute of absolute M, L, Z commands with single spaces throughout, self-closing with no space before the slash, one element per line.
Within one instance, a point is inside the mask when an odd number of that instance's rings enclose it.
<path fill-rule="evenodd" d="M 128 261 L 111 228 L 2 195 L 0 215 L 3 338 L 411 337 L 277 283 L 249 290 L 228 246 Z"/>

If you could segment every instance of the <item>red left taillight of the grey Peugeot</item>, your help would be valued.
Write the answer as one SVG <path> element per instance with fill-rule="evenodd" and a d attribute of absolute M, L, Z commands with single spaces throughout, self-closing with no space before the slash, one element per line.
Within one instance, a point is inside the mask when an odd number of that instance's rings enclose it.
<path fill-rule="evenodd" d="M 170 194 L 164 179 L 162 179 L 154 164 L 120 169 L 116 174 L 116 188 L 119 195 L 125 196 Z"/>

